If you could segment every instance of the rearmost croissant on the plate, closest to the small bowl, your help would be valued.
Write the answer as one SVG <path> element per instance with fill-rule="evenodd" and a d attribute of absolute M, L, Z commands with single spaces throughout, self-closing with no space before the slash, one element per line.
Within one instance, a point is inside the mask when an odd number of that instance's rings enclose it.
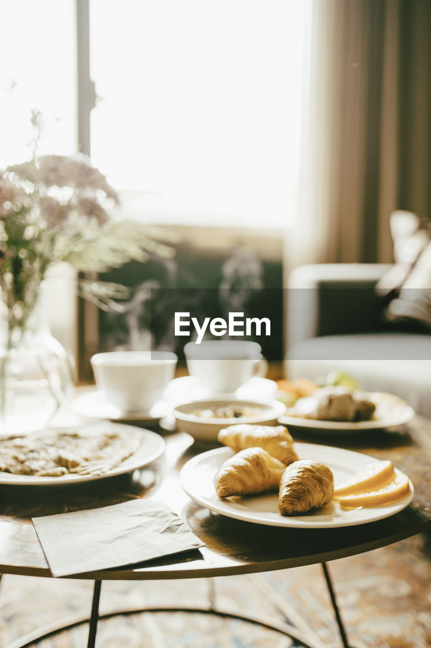
<path fill-rule="evenodd" d="M 293 448 L 293 438 L 283 425 L 230 425 L 220 430 L 217 439 L 235 452 L 245 448 L 263 448 L 271 457 L 289 465 L 298 461 Z"/>

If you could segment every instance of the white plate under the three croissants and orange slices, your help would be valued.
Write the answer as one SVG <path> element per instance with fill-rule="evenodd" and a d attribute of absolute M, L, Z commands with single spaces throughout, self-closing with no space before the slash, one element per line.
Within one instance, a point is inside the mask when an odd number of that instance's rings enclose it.
<path fill-rule="evenodd" d="M 377 461 L 377 459 L 359 452 L 312 443 L 295 443 L 295 449 L 300 459 L 318 459 L 326 464 L 334 474 L 335 485 L 353 477 L 372 461 Z M 217 497 L 214 478 L 223 461 L 233 454 L 234 451 L 230 448 L 216 448 L 216 450 L 208 450 L 208 452 L 193 457 L 181 470 L 181 485 L 188 496 L 204 508 L 245 522 L 268 526 L 301 527 L 303 529 L 328 529 L 365 524 L 399 513 L 412 501 L 414 493 L 413 484 L 410 481 L 410 493 L 399 502 L 345 510 L 341 509 L 335 500 L 332 500 L 326 506 L 309 511 L 305 515 L 285 517 L 278 513 L 278 494 L 274 492 L 223 500 Z"/>

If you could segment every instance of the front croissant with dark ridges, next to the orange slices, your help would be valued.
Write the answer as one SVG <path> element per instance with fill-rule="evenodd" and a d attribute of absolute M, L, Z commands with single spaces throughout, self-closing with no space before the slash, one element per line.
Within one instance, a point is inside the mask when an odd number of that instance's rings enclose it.
<path fill-rule="evenodd" d="M 283 472 L 278 496 L 278 510 L 282 515 L 305 513 L 331 501 L 334 476 L 320 461 L 295 461 Z"/>

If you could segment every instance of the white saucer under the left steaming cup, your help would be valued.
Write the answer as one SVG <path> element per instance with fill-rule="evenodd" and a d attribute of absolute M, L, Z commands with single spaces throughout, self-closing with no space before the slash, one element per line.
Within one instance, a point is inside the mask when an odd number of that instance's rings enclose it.
<path fill-rule="evenodd" d="M 101 391 L 88 391 L 72 400 L 70 409 L 75 414 L 91 417 L 92 419 L 107 419 L 109 421 L 159 421 L 168 416 L 173 405 L 166 400 L 159 400 L 149 411 L 126 412 L 105 400 Z"/>

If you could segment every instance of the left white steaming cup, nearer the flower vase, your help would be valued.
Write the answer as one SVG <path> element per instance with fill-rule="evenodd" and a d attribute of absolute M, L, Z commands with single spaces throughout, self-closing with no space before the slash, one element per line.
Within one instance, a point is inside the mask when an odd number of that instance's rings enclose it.
<path fill-rule="evenodd" d="M 173 379 L 175 353 L 109 351 L 90 360 L 96 387 L 107 401 L 125 413 L 147 412 Z"/>

